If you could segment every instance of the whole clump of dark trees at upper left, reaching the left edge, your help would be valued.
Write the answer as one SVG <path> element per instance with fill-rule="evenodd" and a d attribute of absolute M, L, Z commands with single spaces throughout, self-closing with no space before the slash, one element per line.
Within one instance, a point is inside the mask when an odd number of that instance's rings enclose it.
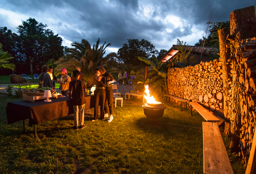
<path fill-rule="evenodd" d="M 33 73 L 37 65 L 41 66 L 49 59 L 58 60 L 64 53 L 61 37 L 46 27 L 34 18 L 22 21 L 17 27 L 18 35 L 7 27 L 0 27 L 3 50 L 12 54 L 12 62 L 22 69 L 20 73 Z"/>

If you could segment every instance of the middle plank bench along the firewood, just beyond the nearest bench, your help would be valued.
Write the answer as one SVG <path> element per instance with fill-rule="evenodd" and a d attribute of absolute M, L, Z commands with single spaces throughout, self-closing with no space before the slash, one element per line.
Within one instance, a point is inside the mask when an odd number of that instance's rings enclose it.
<path fill-rule="evenodd" d="M 210 122 L 216 122 L 219 121 L 218 118 L 216 118 L 212 113 L 210 113 L 208 110 L 206 110 L 203 106 L 201 106 L 197 102 L 190 101 L 189 104 L 191 105 L 191 115 L 192 115 L 192 106 L 197 110 L 198 113 L 204 118 L 206 121 Z"/>

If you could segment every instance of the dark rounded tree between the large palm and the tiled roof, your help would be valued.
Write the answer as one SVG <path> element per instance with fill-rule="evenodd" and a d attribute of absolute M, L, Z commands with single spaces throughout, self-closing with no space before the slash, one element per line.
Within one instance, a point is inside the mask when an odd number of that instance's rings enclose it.
<path fill-rule="evenodd" d="M 127 39 L 128 42 L 119 48 L 118 60 L 124 64 L 133 64 L 134 66 L 140 65 L 142 61 L 137 59 L 138 56 L 150 58 L 153 54 L 157 54 L 158 50 L 151 42 L 142 39 Z"/>

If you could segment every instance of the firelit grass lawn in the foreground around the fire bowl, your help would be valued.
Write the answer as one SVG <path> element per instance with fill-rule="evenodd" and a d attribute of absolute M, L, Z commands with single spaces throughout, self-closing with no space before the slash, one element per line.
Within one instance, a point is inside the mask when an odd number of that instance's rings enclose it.
<path fill-rule="evenodd" d="M 111 123 L 90 121 L 89 110 L 85 129 L 72 130 L 68 115 L 38 125 L 37 141 L 28 120 L 23 135 L 22 121 L 7 124 L 5 107 L 14 100 L 20 99 L 0 94 L 0 173 L 203 174 L 203 118 L 180 112 L 178 104 L 166 102 L 156 121 L 145 117 L 141 100 L 133 97 L 123 107 L 118 102 Z M 244 174 L 241 159 L 229 156 L 234 173 Z"/>

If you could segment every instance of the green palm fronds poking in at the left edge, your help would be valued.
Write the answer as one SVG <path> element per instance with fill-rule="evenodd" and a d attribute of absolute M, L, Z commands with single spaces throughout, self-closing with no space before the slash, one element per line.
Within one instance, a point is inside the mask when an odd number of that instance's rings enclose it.
<path fill-rule="evenodd" d="M 2 70 L 2 68 L 9 68 L 11 70 L 14 70 L 16 66 L 9 62 L 9 60 L 13 59 L 14 57 L 12 57 L 12 55 L 7 51 L 3 51 L 2 46 L 3 45 L 0 43 L 0 69 Z"/>

